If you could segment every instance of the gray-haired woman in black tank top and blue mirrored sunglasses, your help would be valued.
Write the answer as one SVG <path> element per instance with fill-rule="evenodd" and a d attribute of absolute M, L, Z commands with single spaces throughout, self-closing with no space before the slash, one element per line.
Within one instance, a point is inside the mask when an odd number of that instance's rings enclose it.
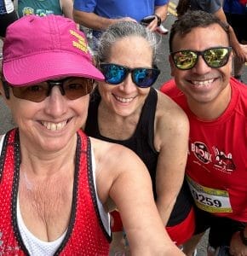
<path fill-rule="evenodd" d="M 91 96 L 85 131 L 139 155 L 164 226 L 181 245 L 194 228 L 191 195 L 183 183 L 189 125 L 181 108 L 152 88 L 160 73 L 157 47 L 156 35 L 135 22 L 118 22 L 102 34 L 95 57 L 105 81 L 97 82 Z M 123 239 L 118 212 L 113 218 L 112 253 Z"/>

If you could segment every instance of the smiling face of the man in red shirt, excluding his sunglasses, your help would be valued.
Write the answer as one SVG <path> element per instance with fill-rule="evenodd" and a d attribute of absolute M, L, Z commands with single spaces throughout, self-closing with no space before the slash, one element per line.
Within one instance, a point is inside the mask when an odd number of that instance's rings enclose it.
<path fill-rule="evenodd" d="M 173 38 L 173 51 L 192 49 L 203 51 L 212 47 L 229 46 L 227 33 L 218 24 L 208 27 L 195 27 L 184 36 L 178 34 Z M 198 104 L 221 102 L 224 90 L 228 90 L 230 74 L 232 72 L 232 55 L 227 65 L 219 68 L 207 66 L 202 56 L 198 63 L 189 70 L 180 70 L 175 67 L 169 57 L 171 74 L 175 76 L 175 83 L 187 96 L 191 108 Z"/>

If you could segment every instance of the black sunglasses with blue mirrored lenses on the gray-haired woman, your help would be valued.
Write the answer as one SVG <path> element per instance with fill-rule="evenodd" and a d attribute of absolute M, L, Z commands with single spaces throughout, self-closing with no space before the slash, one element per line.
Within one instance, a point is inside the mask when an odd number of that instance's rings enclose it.
<path fill-rule="evenodd" d="M 120 84 L 126 79 L 127 75 L 131 73 L 133 83 L 141 88 L 152 86 L 158 79 L 160 73 L 158 67 L 129 68 L 112 63 L 101 63 L 100 68 L 107 84 Z"/>

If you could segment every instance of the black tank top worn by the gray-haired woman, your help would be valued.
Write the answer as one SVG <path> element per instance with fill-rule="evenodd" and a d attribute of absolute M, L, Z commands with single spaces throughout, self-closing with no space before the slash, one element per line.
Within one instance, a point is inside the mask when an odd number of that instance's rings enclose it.
<path fill-rule="evenodd" d="M 127 148 L 132 149 L 135 154 L 138 154 L 141 160 L 145 163 L 146 168 L 152 179 L 152 191 L 154 198 L 157 198 L 156 194 L 156 166 L 158 161 L 158 152 L 153 146 L 154 138 L 154 119 L 156 106 L 158 101 L 157 91 L 152 87 L 150 88 L 149 94 L 146 96 L 146 101 L 141 110 L 141 116 L 136 125 L 136 129 L 132 137 L 127 140 L 115 140 L 109 137 L 101 135 L 99 130 L 98 119 L 98 108 L 101 102 L 101 96 L 99 90 L 95 89 L 91 95 L 89 102 L 88 119 L 85 125 L 85 133 L 90 137 L 99 138 L 109 143 L 118 143 L 124 145 Z M 175 207 L 171 212 L 168 226 L 178 224 L 187 217 L 190 212 L 192 202 L 189 200 L 187 193 L 187 186 L 184 184 L 177 197 Z M 190 196 L 191 197 L 191 196 Z"/>

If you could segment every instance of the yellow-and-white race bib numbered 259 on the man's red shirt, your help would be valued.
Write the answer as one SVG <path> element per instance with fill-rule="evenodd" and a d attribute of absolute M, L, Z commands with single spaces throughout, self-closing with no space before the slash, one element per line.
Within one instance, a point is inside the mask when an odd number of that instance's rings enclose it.
<path fill-rule="evenodd" d="M 227 190 L 204 187 L 187 176 L 187 182 L 198 208 L 206 212 L 233 212 Z"/>

